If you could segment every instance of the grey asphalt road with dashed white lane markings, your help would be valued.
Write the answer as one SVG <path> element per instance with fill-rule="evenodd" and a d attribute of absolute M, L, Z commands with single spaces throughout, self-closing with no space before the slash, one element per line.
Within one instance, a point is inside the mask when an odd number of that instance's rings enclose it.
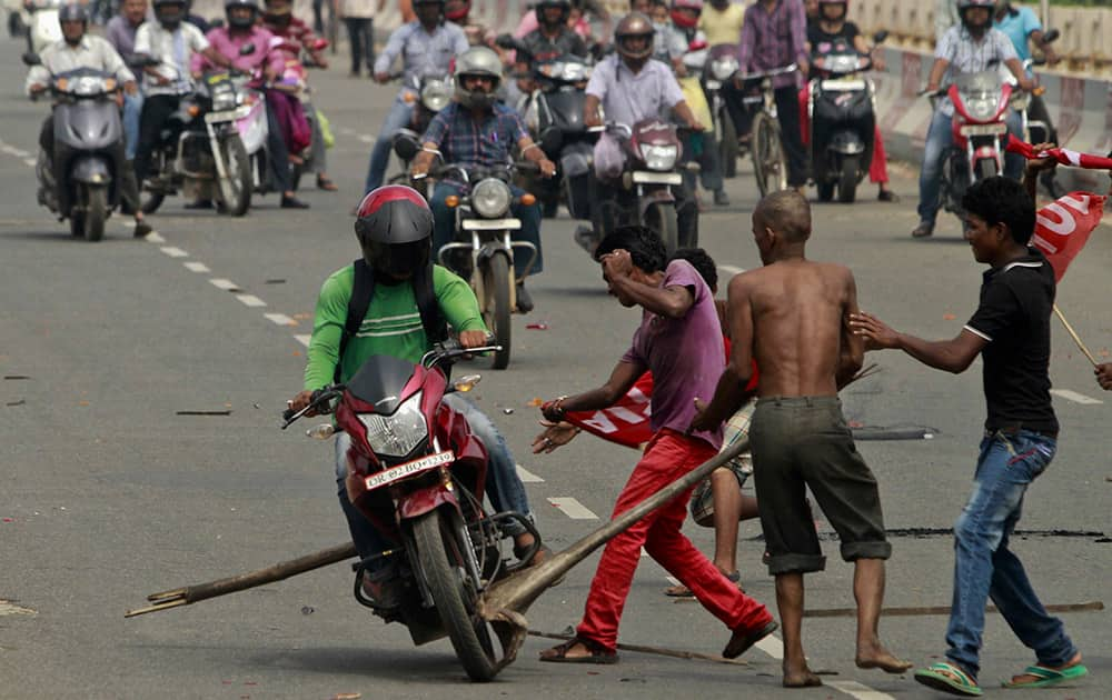
<path fill-rule="evenodd" d="M 787 694 L 776 643 L 746 654 L 747 667 L 632 652 L 614 667 L 557 667 L 537 662 L 550 642 L 534 638 L 496 682 L 470 684 L 447 641 L 414 648 L 401 627 L 358 607 L 345 566 L 125 620 L 147 593 L 346 537 L 330 446 L 278 430 L 278 413 L 300 388 L 305 347 L 297 337 L 311 330 L 320 282 L 358 254 L 347 212 L 391 91 L 348 80 L 341 68 L 314 74 L 337 134 L 330 172 L 341 191 L 307 191 L 312 209 L 279 211 L 270 196 L 248 217 L 230 219 L 187 212 L 178 199 L 151 219 L 157 236 L 132 240 L 115 218 L 108 238 L 88 244 L 34 203 L 28 159 L 46 107 L 22 99 L 19 50 L 0 43 L 0 698 Z M 913 241 L 914 182 L 904 173 L 895 187 L 901 204 L 876 202 L 872 187 L 854 206 L 816 204 L 810 254 L 851 266 L 866 310 L 897 328 L 950 338 L 976 304 L 982 270 L 952 218 L 941 220 L 934 239 Z M 724 279 L 759 264 L 747 168 L 728 191 L 733 206 L 705 214 L 701 241 Z M 534 476 L 529 497 L 557 549 L 609 513 L 636 458 L 588 436 L 553 456 L 528 450 L 537 432 L 530 401 L 599 383 L 638 321 L 637 311 L 606 296 L 598 267 L 570 232 L 566 218 L 545 222 L 547 269 L 530 281 L 536 311 L 515 317 L 509 369 L 487 370 L 476 391 Z M 1104 228 L 1059 290 L 1061 308 L 1101 357 L 1112 346 L 1110 263 Z M 547 330 L 526 329 L 537 321 Z M 953 554 L 940 531 L 970 489 L 984 411 L 980 364 L 955 378 L 897 353 L 868 359 L 883 371 L 843 397 L 850 419 L 935 430 L 932 440 L 860 443 L 894 531 L 887 603 L 944 606 Z M 1056 389 L 1072 392 L 1055 398 L 1060 451 L 1030 490 L 1021 528 L 1031 534 L 1014 544 L 1045 602 L 1108 600 L 1109 396 L 1059 326 L 1051 372 Z M 550 499 L 575 499 L 583 510 Z M 687 531 L 709 551 L 708 530 Z M 743 526 L 741 570 L 748 591 L 772 604 L 758 534 L 755 523 Z M 808 577 L 807 604 L 852 606 L 852 568 L 836 557 L 835 541 L 826 547 L 828 570 Z M 533 606 L 533 629 L 560 631 L 578 621 L 595 561 Z M 622 640 L 717 653 L 726 630 L 697 604 L 662 596 L 667 584 L 645 559 Z M 1110 697 L 1102 690 L 1112 677 L 1108 612 L 1065 620 L 1092 676 L 1040 697 Z M 943 616 L 882 621 L 891 648 L 920 663 L 942 653 L 944 631 Z M 808 620 L 805 634 L 813 668 L 831 672 L 811 697 L 929 697 L 910 677 L 855 669 L 850 618 Z M 982 682 L 999 694 L 996 679 L 1031 658 L 996 616 L 985 644 Z"/>

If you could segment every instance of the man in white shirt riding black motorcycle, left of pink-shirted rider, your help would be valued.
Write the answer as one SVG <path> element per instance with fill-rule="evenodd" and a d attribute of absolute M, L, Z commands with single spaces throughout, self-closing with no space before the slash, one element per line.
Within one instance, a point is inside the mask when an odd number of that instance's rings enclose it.
<path fill-rule="evenodd" d="M 177 111 L 181 98 L 192 90 L 189 63 L 201 53 L 214 64 L 231 68 L 231 61 L 209 46 L 196 26 L 185 21 L 185 0 L 155 0 L 153 22 L 143 22 L 136 31 L 135 51 L 158 61 L 143 68 L 142 112 L 139 116 L 139 144 L 136 147 L 136 180 L 142 187 L 150 170 L 150 159 L 159 143 L 162 124 Z"/>

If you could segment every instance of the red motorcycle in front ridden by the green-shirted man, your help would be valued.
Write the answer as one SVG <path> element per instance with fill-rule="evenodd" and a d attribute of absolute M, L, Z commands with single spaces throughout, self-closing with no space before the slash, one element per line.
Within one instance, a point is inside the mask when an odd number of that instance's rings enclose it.
<path fill-rule="evenodd" d="M 520 513 L 488 513 L 483 506 L 487 452 L 467 421 L 443 403 L 445 393 L 469 391 L 468 376 L 450 383 L 447 368 L 475 352 L 447 341 L 420 364 L 387 356 L 369 358 L 347 384 L 317 391 L 310 404 L 287 411 L 285 429 L 309 411 L 329 412 L 336 423 L 318 426 L 310 437 L 336 431 L 351 439 L 347 490 L 351 503 L 397 546 L 354 566 L 355 597 L 387 622 L 409 629 L 415 644 L 447 636 L 471 680 L 487 681 L 506 663 L 502 640 L 476 611 L 479 594 L 493 581 L 528 562 L 540 547 L 536 528 Z M 520 562 L 508 563 L 502 547 L 508 522 L 535 538 Z M 363 590 L 364 570 L 381 563 L 395 574 L 398 604 L 383 607 Z"/>

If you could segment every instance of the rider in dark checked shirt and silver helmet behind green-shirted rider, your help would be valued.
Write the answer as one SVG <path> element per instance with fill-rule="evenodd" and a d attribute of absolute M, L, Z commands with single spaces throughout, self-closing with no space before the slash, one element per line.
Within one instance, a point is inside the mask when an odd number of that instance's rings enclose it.
<path fill-rule="evenodd" d="M 537 163 L 540 173 L 548 178 L 556 172 L 556 164 L 533 142 L 518 113 L 497 100 L 502 83 L 502 61 L 498 54 L 486 47 L 473 47 L 456 59 L 456 94 L 451 104 L 440 110 L 421 137 L 421 152 L 414 158 L 414 176 L 428 173 L 434 156 L 439 154 L 445 163 L 465 168 L 476 166 L 494 167 L 510 160 L 510 149 L 520 149 L 522 157 Z M 514 238 L 533 243 L 537 258 L 529 274 L 537 274 L 544 268 L 540 249 L 540 206 L 523 204 L 523 190 L 512 186 L 515 203 L 514 217 L 522 220 L 522 228 Z M 461 194 L 460 183 L 441 180 L 436 184 L 429 204 L 436 219 L 433 232 L 433 249 L 438 251 L 451 242 L 455 233 L 455 212 L 446 200 L 449 196 Z M 515 276 L 522 278 L 527 270 L 525 256 L 514 258 Z M 525 291 L 524 281 L 517 282 L 517 308 L 522 313 L 533 309 L 533 300 Z"/>

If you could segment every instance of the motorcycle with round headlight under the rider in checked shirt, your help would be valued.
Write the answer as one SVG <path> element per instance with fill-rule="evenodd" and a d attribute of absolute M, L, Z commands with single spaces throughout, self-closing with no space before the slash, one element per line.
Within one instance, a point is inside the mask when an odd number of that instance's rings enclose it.
<path fill-rule="evenodd" d="M 536 262 L 536 246 L 528 241 L 513 240 L 513 232 L 522 229 L 522 220 L 509 211 L 515 203 L 509 182 L 515 170 L 536 168 L 522 162 L 514 167 L 465 168 L 447 164 L 434 168 L 434 178 L 453 176 L 464 183 L 461 197 L 449 197 L 448 206 L 456 211 L 455 240 L 436 251 L 444 267 L 470 282 L 479 301 L 483 321 L 494 334 L 499 349 L 493 354 L 492 367 L 506 369 L 509 364 L 510 314 L 517 308 L 517 282 L 514 268 L 515 252 L 528 254 L 524 280 Z M 424 178 L 417 179 L 418 182 Z M 526 192 L 520 202 L 536 202 Z"/>

